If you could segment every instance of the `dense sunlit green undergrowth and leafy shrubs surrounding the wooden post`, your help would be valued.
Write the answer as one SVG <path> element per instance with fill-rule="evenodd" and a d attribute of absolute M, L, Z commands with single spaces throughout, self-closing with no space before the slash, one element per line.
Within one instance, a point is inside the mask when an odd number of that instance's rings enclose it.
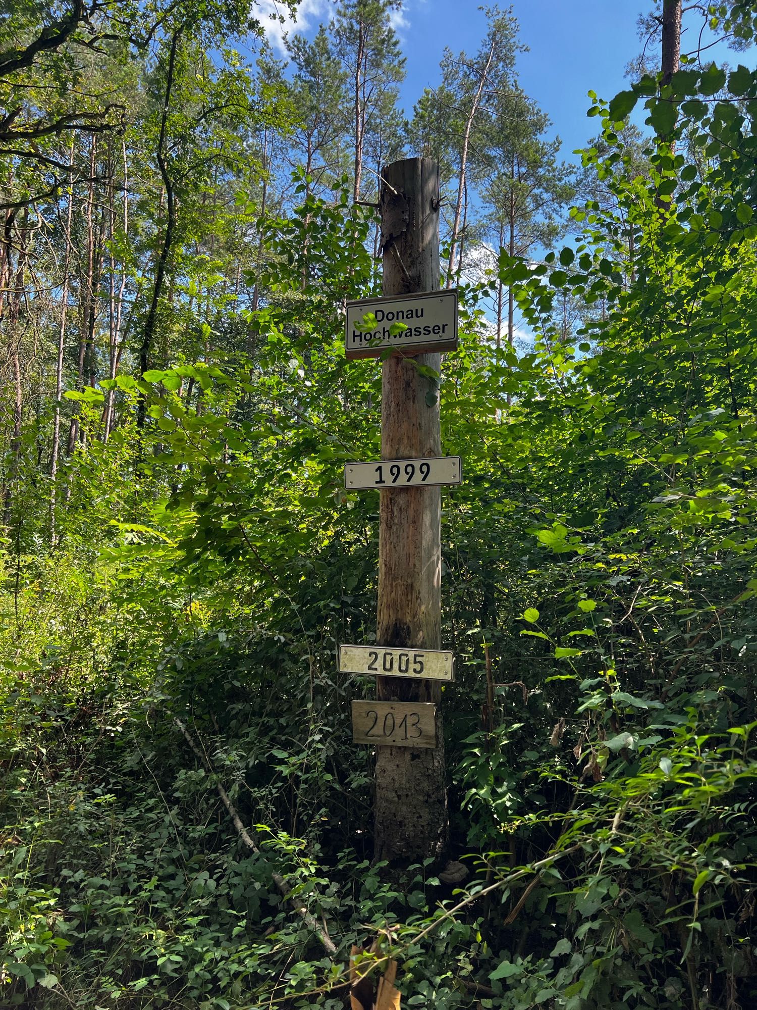
<path fill-rule="evenodd" d="M 750 1006 L 757 75 L 684 68 L 597 103 L 578 240 L 538 265 L 503 252 L 425 375 L 465 469 L 442 527 L 458 890 L 430 862 L 370 863 L 348 712 L 372 682 L 335 662 L 374 637 L 377 501 L 342 466 L 380 451 L 381 363 L 344 361 L 340 311 L 377 290 L 372 218 L 348 179 L 305 170 L 291 206 L 262 206 L 267 131 L 297 123 L 303 82 L 293 113 L 271 67 L 193 78 L 191 40 L 179 65 L 154 367 L 126 339 L 106 378 L 80 340 L 62 406 L 8 429 L 0 1001 L 336 1010 L 351 944 L 375 940 L 363 964 L 396 957 L 411 1007 Z M 165 70 L 140 113 L 154 186 Z M 643 157 L 618 128 L 641 101 Z M 129 325 L 166 225 L 149 187 L 139 204 L 132 245 L 102 232 Z M 520 357 L 488 335 L 497 285 L 537 336 Z M 56 409 L 73 438 L 50 475 Z"/>

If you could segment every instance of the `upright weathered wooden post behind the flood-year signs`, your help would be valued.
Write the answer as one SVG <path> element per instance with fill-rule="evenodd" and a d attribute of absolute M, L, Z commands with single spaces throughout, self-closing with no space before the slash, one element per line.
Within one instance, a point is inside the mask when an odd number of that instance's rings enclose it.
<path fill-rule="evenodd" d="M 394 162 L 381 186 L 384 294 L 439 289 L 439 170 L 427 158 Z M 441 454 L 439 403 L 414 366 L 440 371 L 441 355 L 393 356 L 382 375 L 382 458 Z M 382 490 L 379 527 L 380 645 L 441 647 L 441 492 Z M 375 762 L 375 857 L 439 856 L 447 842 L 441 687 L 379 677 L 383 701 L 436 702 L 436 747 L 380 746 Z"/>

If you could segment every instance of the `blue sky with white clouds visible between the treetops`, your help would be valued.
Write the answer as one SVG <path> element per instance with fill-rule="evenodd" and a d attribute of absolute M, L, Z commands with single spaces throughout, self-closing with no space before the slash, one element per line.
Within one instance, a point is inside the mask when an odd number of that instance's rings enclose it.
<path fill-rule="evenodd" d="M 573 149 L 597 132 L 597 120 L 586 119 L 586 93 L 593 90 L 610 99 L 629 86 L 625 69 L 642 46 L 637 18 L 652 5 L 652 0 L 514 0 L 521 41 L 529 46 L 519 58 L 521 85 L 550 116 L 566 160 L 575 161 Z M 485 31 L 478 6 L 471 0 L 405 0 L 395 24 L 407 57 L 402 100 L 408 116 L 423 89 L 438 83 L 445 45 L 470 54 L 478 47 Z M 280 9 L 277 0 L 259 0 L 259 7 Z M 298 22 L 288 27 L 312 37 L 333 9 L 332 0 L 302 0 Z M 281 30 L 275 26 L 269 33 L 275 45 Z M 684 49 L 686 42 L 684 35 Z M 711 55 L 733 66 L 755 65 L 754 49 L 737 54 L 720 45 Z"/>

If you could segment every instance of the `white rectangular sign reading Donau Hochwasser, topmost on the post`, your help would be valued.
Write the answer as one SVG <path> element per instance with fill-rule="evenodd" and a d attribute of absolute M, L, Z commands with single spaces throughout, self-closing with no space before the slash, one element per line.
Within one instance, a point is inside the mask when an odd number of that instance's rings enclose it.
<path fill-rule="evenodd" d="M 409 355 L 454 350 L 457 346 L 457 291 L 428 291 L 347 302 L 347 358 L 377 358 L 395 347 Z"/>

